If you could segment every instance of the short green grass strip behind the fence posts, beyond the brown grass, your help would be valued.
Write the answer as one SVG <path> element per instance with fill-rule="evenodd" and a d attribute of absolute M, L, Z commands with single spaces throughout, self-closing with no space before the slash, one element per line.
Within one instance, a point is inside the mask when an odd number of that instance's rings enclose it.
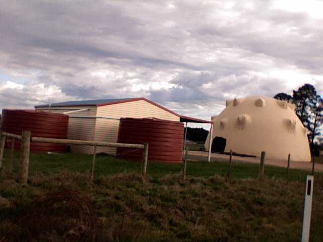
<path fill-rule="evenodd" d="M 8 159 L 8 151 L 5 153 Z M 16 160 L 19 155 L 16 154 Z M 79 171 L 84 173 L 90 171 L 92 167 L 92 155 L 85 154 L 30 154 L 29 175 L 33 176 L 39 173 L 49 175 L 56 174 L 62 170 Z M 182 164 L 169 164 L 148 162 L 147 172 L 152 177 L 161 177 L 167 174 L 179 173 L 182 171 Z M 188 176 L 194 177 L 211 177 L 214 174 L 225 176 L 228 172 L 229 165 L 227 162 L 188 162 Z M 113 175 L 120 172 L 140 172 L 141 163 L 131 162 L 127 160 L 117 159 L 111 156 L 97 155 L 95 163 L 95 176 L 98 175 Z M 232 178 L 255 178 L 258 176 L 259 165 L 234 162 L 232 165 Z M 304 181 L 309 171 L 291 169 L 290 180 Z M 286 178 L 287 170 L 283 167 L 271 165 L 265 166 L 265 175 L 273 178 Z M 317 175 L 322 175 L 317 173 Z"/>

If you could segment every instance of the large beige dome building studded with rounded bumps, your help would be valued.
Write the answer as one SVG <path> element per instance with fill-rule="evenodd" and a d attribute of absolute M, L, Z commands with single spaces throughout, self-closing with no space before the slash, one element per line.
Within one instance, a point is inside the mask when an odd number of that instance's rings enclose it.
<path fill-rule="evenodd" d="M 212 116 L 214 138 L 226 139 L 225 152 L 259 156 L 266 152 L 266 158 L 310 161 L 307 129 L 295 114 L 295 106 L 286 101 L 264 96 L 235 98 L 226 102 L 226 108 Z M 224 140 L 217 138 L 217 140 Z M 205 141 L 209 147 L 209 135 Z"/>

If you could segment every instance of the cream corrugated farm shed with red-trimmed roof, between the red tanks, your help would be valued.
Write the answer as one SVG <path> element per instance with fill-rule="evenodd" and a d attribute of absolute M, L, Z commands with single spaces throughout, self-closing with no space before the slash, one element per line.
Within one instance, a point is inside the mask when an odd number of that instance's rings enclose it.
<path fill-rule="evenodd" d="M 154 117 L 184 123 L 210 123 L 177 114 L 146 98 L 68 101 L 35 106 L 36 110 L 66 113 L 69 118 L 68 138 L 117 142 L 120 118 Z M 72 146 L 77 153 L 93 153 L 92 146 Z M 97 153 L 116 155 L 116 148 L 97 147 Z"/>

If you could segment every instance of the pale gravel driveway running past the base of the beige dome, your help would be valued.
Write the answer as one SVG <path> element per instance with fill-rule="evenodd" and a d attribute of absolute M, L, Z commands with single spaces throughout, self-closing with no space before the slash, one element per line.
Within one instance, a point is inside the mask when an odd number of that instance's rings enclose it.
<path fill-rule="evenodd" d="M 207 160 L 207 152 L 203 151 L 188 151 L 188 159 L 193 161 Z M 229 155 L 224 154 L 211 154 L 211 161 L 228 161 Z M 233 161 L 238 162 L 247 162 L 247 163 L 256 163 L 259 164 L 260 158 L 256 157 L 241 157 L 241 156 L 233 156 Z M 275 165 L 281 167 L 287 167 L 287 157 L 286 160 L 271 160 L 265 159 L 266 165 Z M 312 170 L 311 162 L 295 162 L 291 161 L 291 169 L 303 169 L 303 170 Z M 315 163 L 315 171 L 323 172 L 323 164 Z"/>

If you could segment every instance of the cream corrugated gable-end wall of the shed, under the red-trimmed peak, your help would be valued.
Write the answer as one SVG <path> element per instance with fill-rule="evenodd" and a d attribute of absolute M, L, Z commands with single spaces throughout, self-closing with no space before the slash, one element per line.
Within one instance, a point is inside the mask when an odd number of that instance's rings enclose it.
<path fill-rule="evenodd" d="M 120 117 L 155 117 L 164 120 L 178 121 L 180 117 L 159 108 L 144 100 L 119 103 L 97 107 L 97 116 L 120 118 Z M 95 141 L 117 142 L 119 120 L 96 119 Z M 97 147 L 97 152 L 116 155 L 116 148 Z"/>

